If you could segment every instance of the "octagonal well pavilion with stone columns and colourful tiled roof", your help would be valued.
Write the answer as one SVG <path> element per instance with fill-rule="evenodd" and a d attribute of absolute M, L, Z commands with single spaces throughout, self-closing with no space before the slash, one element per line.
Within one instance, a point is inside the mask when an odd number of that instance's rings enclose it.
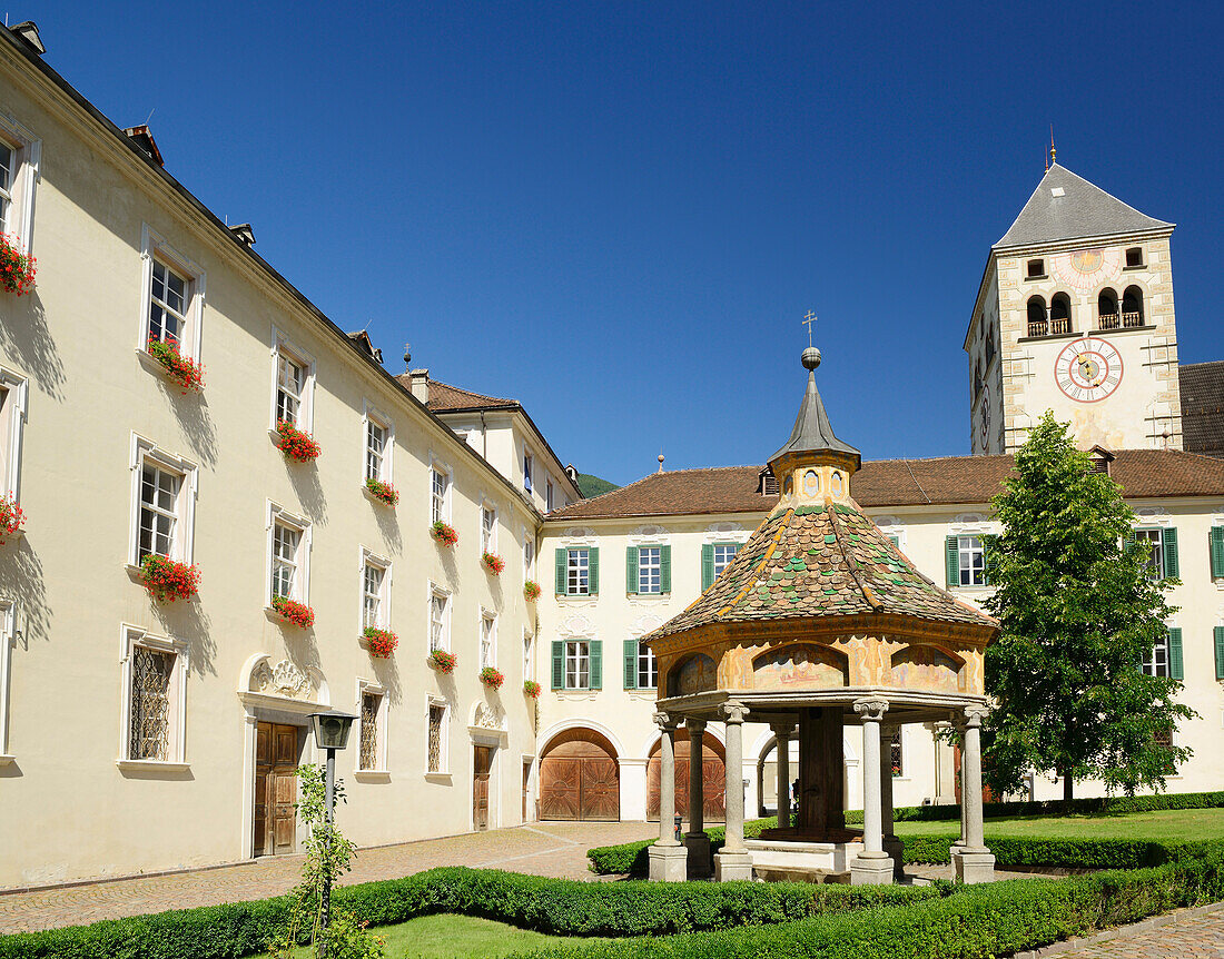
<path fill-rule="evenodd" d="M 683 723 L 700 749 L 706 723 L 726 724 L 727 838 L 715 877 L 748 879 L 849 873 L 854 883 L 900 875 L 892 835 L 892 769 L 881 738 L 903 723 L 962 730 L 961 838 L 956 875 L 988 881 L 994 856 L 982 834 L 983 653 L 999 624 L 914 569 L 851 497 L 860 457 L 829 423 L 815 369 L 791 439 L 770 457 L 781 499 L 701 597 L 647 641 L 659 661 L 655 722 L 662 730 L 660 838 L 654 879 L 705 871 L 701 777 L 689 777 L 693 821 L 672 832 L 673 735 Z M 744 840 L 743 723 L 777 736 L 777 828 Z M 846 828 L 843 728 L 863 728 L 863 829 Z M 798 821 L 789 822 L 789 740 L 798 733 Z"/>

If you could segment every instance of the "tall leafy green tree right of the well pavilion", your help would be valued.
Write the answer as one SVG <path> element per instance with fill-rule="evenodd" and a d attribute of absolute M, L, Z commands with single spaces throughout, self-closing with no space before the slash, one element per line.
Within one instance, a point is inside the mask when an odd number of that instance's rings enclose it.
<path fill-rule="evenodd" d="M 1002 625 L 987 648 L 985 686 L 998 706 L 984 728 L 987 780 L 1015 791 L 1028 769 L 1102 779 L 1127 795 L 1163 790 L 1190 757 L 1171 745 L 1181 684 L 1140 668 L 1165 641 L 1174 612 L 1136 549 L 1121 488 L 1049 411 L 1016 453 L 1016 476 L 995 497 L 1002 536 L 988 548 L 987 608 Z"/>

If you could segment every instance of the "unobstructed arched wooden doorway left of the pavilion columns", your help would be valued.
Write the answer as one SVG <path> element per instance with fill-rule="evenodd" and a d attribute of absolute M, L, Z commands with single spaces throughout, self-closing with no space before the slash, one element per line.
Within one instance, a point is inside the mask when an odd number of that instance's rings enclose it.
<path fill-rule="evenodd" d="M 540 818 L 621 818 L 621 769 L 606 736 L 579 728 L 548 740 L 540 758 Z"/>

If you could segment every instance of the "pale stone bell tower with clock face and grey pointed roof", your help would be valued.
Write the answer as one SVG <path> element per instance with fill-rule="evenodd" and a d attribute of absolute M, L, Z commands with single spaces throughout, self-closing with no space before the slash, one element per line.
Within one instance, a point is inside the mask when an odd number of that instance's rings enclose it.
<path fill-rule="evenodd" d="M 1082 449 L 1181 449 L 1173 230 L 1050 149 L 965 338 L 974 454 L 1015 451 L 1047 410 Z"/>

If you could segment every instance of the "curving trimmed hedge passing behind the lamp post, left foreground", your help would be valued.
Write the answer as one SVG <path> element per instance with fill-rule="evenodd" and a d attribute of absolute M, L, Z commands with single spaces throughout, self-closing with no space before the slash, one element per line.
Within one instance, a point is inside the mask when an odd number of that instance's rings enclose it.
<path fill-rule="evenodd" d="M 334 909 L 372 926 L 433 913 L 483 916 L 559 936 L 665 936 L 794 921 L 805 916 L 901 905 L 955 887 L 812 886 L 807 883 L 578 882 L 448 866 L 403 879 L 341 886 Z M 220 959 L 263 952 L 294 902 L 203 906 L 89 926 L 0 936 L 2 959 Z"/>

